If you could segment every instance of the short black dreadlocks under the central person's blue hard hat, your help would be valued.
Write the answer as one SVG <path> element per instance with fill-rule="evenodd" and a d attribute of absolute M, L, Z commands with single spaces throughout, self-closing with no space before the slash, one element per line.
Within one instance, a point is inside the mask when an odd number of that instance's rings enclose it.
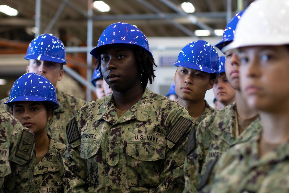
<path fill-rule="evenodd" d="M 140 49 L 134 49 L 140 48 Z M 146 50 L 142 49 L 140 46 L 132 46 L 131 50 L 134 52 L 134 56 L 136 58 L 136 65 L 138 65 L 138 73 L 141 74 L 141 83 L 142 88 L 145 89 L 147 87 L 148 82 L 151 84 L 155 80 L 155 74 L 153 66 L 158 67 L 155 64 L 155 60 L 153 56 Z M 100 55 L 97 56 L 97 60 L 95 65 L 97 65 L 96 69 L 100 69 L 101 58 Z M 102 73 L 100 71 L 101 79 L 103 80 Z"/>

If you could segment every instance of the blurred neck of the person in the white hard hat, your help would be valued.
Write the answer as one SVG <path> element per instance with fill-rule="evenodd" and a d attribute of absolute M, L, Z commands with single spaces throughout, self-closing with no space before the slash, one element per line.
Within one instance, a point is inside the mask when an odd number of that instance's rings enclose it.
<path fill-rule="evenodd" d="M 260 113 L 262 120 L 262 139 L 271 144 L 281 144 L 289 139 L 288 113 Z"/>

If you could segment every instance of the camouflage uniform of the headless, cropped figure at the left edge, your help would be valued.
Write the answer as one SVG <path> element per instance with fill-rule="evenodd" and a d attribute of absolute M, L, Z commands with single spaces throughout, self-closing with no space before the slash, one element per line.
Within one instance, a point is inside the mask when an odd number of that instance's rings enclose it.
<path fill-rule="evenodd" d="M 34 134 L 0 108 L 0 192 L 34 192 Z"/>

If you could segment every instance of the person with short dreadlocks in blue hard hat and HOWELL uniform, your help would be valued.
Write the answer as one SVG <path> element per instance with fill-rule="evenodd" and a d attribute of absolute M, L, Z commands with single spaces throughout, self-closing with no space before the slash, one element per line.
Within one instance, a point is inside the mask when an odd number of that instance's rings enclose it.
<path fill-rule="evenodd" d="M 111 95 L 83 106 L 67 125 L 66 192 L 182 192 L 193 118 L 151 92 L 156 66 L 144 34 L 114 23 L 90 54 Z"/>

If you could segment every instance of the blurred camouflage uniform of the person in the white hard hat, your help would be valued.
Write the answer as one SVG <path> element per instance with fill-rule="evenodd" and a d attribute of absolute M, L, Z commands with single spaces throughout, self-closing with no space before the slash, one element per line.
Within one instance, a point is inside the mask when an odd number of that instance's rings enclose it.
<path fill-rule="evenodd" d="M 262 129 L 261 124 L 258 127 Z M 225 152 L 215 164 L 214 177 L 201 192 L 288 193 L 289 141 L 260 157 L 260 135 L 261 131 Z"/>

